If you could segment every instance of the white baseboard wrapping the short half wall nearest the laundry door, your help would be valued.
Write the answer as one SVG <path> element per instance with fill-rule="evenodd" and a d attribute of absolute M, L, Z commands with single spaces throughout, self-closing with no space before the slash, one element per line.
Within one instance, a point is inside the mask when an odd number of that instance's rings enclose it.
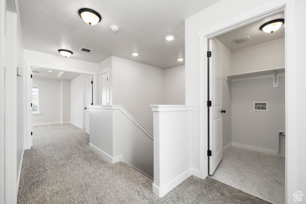
<path fill-rule="evenodd" d="M 175 179 L 173 179 L 163 187 L 158 187 L 153 183 L 153 193 L 155 193 L 155 195 L 161 198 L 162 196 L 166 195 L 169 191 L 174 189 L 178 184 L 182 183 L 191 175 L 192 175 L 192 168 L 185 171 L 181 175 L 177 176 Z"/>

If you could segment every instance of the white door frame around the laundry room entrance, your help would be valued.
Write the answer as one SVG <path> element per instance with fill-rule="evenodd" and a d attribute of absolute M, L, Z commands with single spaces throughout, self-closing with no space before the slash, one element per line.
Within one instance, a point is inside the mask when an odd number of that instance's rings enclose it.
<path fill-rule="evenodd" d="M 296 192 L 297 180 L 297 108 L 296 106 L 287 106 L 294 104 L 297 100 L 296 76 L 296 2 L 295 0 L 272 0 L 247 12 L 241 13 L 235 17 L 224 20 L 209 28 L 198 32 L 200 42 L 200 178 L 204 179 L 208 176 L 208 110 L 207 101 L 207 70 L 208 58 L 207 40 L 223 33 L 241 28 L 245 25 L 252 24 L 265 17 L 274 15 L 281 11 L 285 11 L 285 132 L 286 132 L 286 160 L 285 160 L 285 202 L 287 203 L 291 191 Z M 290 71 L 288 71 L 288 69 Z M 292 91 L 290 91 L 292 90 Z M 287 136 L 288 135 L 288 136 Z M 290 136 L 289 136 L 290 135 Z M 289 139 L 290 138 L 290 139 Z M 290 192 L 288 192 L 290 189 Z M 293 192 L 293 193 L 294 193 Z"/>

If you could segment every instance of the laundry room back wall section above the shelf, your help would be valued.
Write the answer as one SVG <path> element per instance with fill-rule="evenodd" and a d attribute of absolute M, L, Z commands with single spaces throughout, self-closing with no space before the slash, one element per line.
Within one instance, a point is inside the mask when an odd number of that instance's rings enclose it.
<path fill-rule="evenodd" d="M 285 38 L 232 51 L 232 73 L 285 67 Z"/>

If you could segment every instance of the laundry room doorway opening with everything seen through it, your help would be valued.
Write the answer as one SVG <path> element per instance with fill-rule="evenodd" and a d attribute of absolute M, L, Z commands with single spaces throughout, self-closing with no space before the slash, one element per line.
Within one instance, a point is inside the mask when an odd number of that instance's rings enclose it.
<path fill-rule="evenodd" d="M 285 149 L 285 28 L 259 27 L 284 17 L 277 13 L 207 42 L 208 174 L 272 203 L 285 203 L 279 151 Z"/>

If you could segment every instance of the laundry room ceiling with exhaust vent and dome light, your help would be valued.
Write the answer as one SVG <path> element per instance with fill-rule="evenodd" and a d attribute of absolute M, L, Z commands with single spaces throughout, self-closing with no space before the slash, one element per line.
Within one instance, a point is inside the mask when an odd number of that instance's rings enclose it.
<path fill-rule="evenodd" d="M 278 18 L 285 18 L 285 14 L 282 12 L 274 16 L 267 17 L 256 23 L 238 28 L 236 30 L 224 33 L 222 35 L 218 35 L 216 38 L 231 51 L 242 49 L 242 48 L 253 46 L 253 45 L 258 45 L 261 43 L 266 43 L 266 42 L 280 39 L 280 38 L 284 38 L 285 37 L 285 25 L 282 25 L 281 28 L 279 28 L 277 31 L 273 33 L 265 33 L 259 30 L 259 27 L 262 24 L 270 20 L 274 20 Z M 235 39 L 239 39 L 247 35 L 250 36 L 249 41 L 238 43 L 238 44 L 236 44 L 233 41 Z"/>

